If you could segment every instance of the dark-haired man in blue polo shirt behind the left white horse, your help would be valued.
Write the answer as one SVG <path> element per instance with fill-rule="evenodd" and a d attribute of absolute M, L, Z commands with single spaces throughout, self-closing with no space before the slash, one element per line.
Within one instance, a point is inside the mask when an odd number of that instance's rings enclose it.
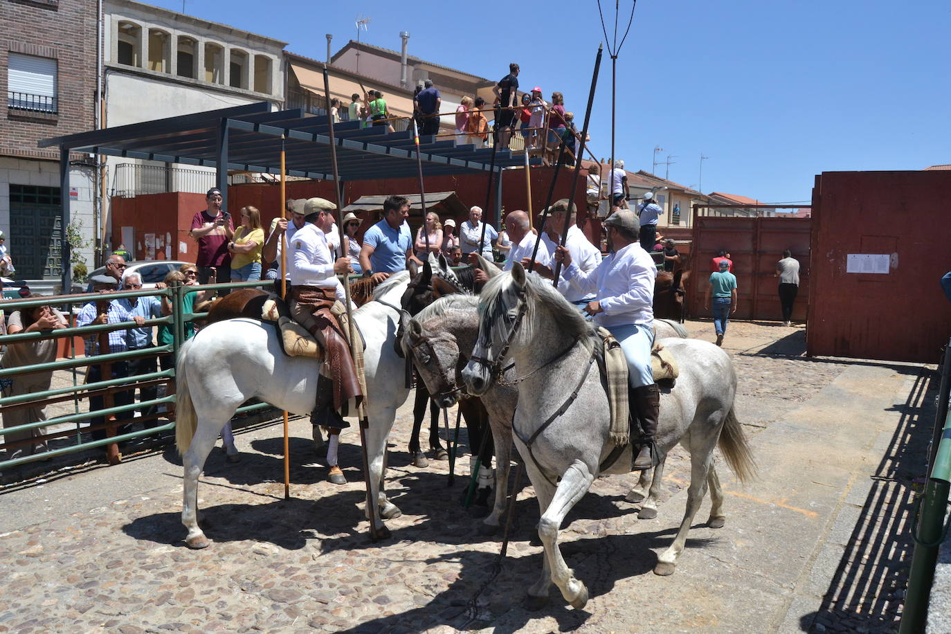
<path fill-rule="evenodd" d="M 402 196 L 391 196 L 383 201 L 383 220 L 363 235 L 359 265 L 364 278 L 373 277 L 374 282 L 379 283 L 390 274 L 405 270 L 407 259 L 422 266 L 413 254 L 413 234 L 406 223 L 409 216 L 410 202 Z"/>

